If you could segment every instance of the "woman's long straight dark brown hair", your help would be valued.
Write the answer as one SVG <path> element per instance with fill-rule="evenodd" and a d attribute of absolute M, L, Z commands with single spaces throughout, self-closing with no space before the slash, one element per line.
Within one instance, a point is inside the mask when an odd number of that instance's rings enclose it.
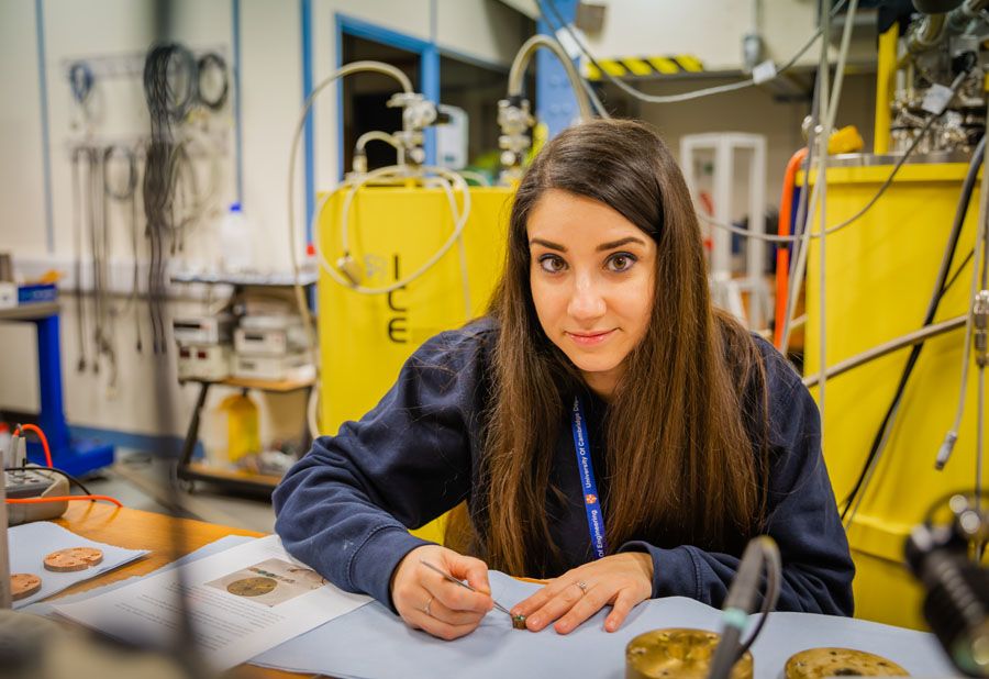
<path fill-rule="evenodd" d="M 488 494 L 471 508 L 482 526 L 476 547 L 515 575 L 562 567 L 546 511 L 551 463 L 580 378 L 543 332 L 530 288 L 526 224 L 548 189 L 609 205 L 657 244 L 648 330 L 605 418 L 610 547 L 658 534 L 723 548 L 758 532 L 768 455 L 759 349 L 711 307 L 700 227 L 669 149 L 645 124 L 601 120 L 549 142 L 512 205 L 490 308 L 500 335 L 480 470 Z"/>

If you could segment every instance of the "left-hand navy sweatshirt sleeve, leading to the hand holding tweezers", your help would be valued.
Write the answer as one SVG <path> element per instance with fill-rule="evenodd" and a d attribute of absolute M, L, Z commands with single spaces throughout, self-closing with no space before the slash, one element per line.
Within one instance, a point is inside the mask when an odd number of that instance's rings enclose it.
<path fill-rule="evenodd" d="M 289 469 L 273 503 L 275 531 L 293 557 L 392 606 L 392 570 L 430 544 L 408 530 L 468 494 L 477 354 L 463 331 L 427 341 L 373 411 L 318 438 Z"/>

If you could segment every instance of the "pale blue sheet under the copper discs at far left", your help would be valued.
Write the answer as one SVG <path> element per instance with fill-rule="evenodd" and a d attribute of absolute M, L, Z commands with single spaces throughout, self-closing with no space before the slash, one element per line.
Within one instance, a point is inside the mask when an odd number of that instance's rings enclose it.
<path fill-rule="evenodd" d="M 124 549 L 98 543 L 93 539 L 76 535 L 48 521 L 35 521 L 10 528 L 10 572 L 31 572 L 42 579 L 42 588 L 26 599 L 13 602 L 14 609 L 23 609 L 35 601 L 71 587 L 76 582 L 95 578 L 129 564 L 148 552 L 147 549 Z M 86 570 L 75 572 L 53 572 L 45 570 L 45 556 L 68 547 L 98 547 L 103 552 L 103 560 Z"/>

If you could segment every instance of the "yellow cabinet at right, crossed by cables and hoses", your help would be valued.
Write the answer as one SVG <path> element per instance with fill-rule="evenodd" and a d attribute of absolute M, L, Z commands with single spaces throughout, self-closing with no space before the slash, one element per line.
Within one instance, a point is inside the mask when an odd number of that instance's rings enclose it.
<path fill-rule="evenodd" d="M 907 164 L 863 218 L 827 237 L 823 322 L 829 366 L 921 326 L 966 169 L 965 163 Z M 829 168 L 827 224 L 855 214 L 891 171 L 890 164 Z M 952 271 L 973 248 L 978 204 L 976 188 Z M 819 230 L 816 218 L 813 229 Z M 808 259 L 807 375 L 820 369 L 819 247 L 814 241 Z M 935 322 L 966 313 L 970 275 L 969 264 L 942 300 Z M 929 505 L 952 491 L 970 489 L 975 482 L 974 368 L 954 455 L 943 471 L 934 469 L 955 416 L 963 342 L 963 330 L 926 342 L 882 458 L 849 527 L 858 617 L 924 626 L 922 591 L 907 570 L 903 546 Z M 903 348 L 826 382 L 823 446 L 838 502 L 855 483 L 909 353 Z M 814 397 L 819 398 L 816 391 Z"/>

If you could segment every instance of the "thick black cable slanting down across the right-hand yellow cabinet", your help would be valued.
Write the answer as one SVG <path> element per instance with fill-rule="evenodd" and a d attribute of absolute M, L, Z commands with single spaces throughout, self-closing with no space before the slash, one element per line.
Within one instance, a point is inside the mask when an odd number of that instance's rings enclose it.
<path fill-rule="evenodd" d="M 920 138 L 921 135 L 918 135 Z M 955 251 L 958 246 L 958 238 L 962 235 L 962 226 L 965 222 L 965 215 L 968 213 L 968 207 L 971 202 L 971 194 L 975 190 L 976 179 L 979 172 L 979 168 L 982 165 L 982 158 L 986 155 L 986 135 L 982 135 L 982 138 L 979 140 L 978 146 L 976 146 L 975 152 L 973 153 L 971 160 L 968 164 L 968 171 L 965 175 L 965 180 L 962 183 L 962 193 L 958 197 L 958 205 L 955 210 L 955 219 L 952 223 L 952 231 L 948 235 L 947 244 L 945 245 L 944 256 L 941 259 L 941 268 L 937 271 L 937 281 L 934 286 L 934 293 L 931 297 L 931 301 L 927 303 L 927 311 L 924 315 L 923 326 L 930 325 L 934 322 L 934 316 L 937 313 L 937 308 L 941 304 L 941 300 L 944 298 L 945 292 L 947 291 L 947 277 L 951 271 L 952 261 L 955 257 Z M 963 265 L 964 266 L 964 265 Z M 959 267 L 960 271 L 960 267 Z M 955 276 L 957 277 L 957 275 Z M 952 279 L 954 282 L 954 278 Z M 900 404 L 900 401 L 903 398 L 903 392 L 907 389 L 907 382 L 910 379 L 910 376 L 913 374 L 913 369 L 916 367 L 916 361 L 920 358 L 920 354 L 924 348 L 924 343 L 919 342 L 914 344 L 910 349 L 910 356 L 907 359 L 907 364 L 903 366 L 903 371 L 900 374 L 900 381 L 897 385 L 896 393 L 893 394 L 892 401 L 889 404 L 889 408 L 886 411 L 886 415 L 882 418 L 882 422 L 879 424 L 879 428 L 876 432 L 876 435 L 873 438 L 873 445 L 869 448 L 869 454 L 866 456 L 865 463 L 863 464 L 862 470 L 858 474 L 858 478 L 855 481 L 855 486 L 853 486 L 852 491 L 844 500 L 844 508 L 842 509 L 842 521 L 845 520 L 848 512 L 851 511 L 855 498 L 862 491 L 863 485 L 865 482 L 866 476 L 868 476 L 869 468 L 873 466 L 873 461 L 879 454 L 879 450 L 882 447 L 882 441 L 886 438 L 886 431 L 890 426 L 890 421 L 893 418 L 893 413 Z"/>

